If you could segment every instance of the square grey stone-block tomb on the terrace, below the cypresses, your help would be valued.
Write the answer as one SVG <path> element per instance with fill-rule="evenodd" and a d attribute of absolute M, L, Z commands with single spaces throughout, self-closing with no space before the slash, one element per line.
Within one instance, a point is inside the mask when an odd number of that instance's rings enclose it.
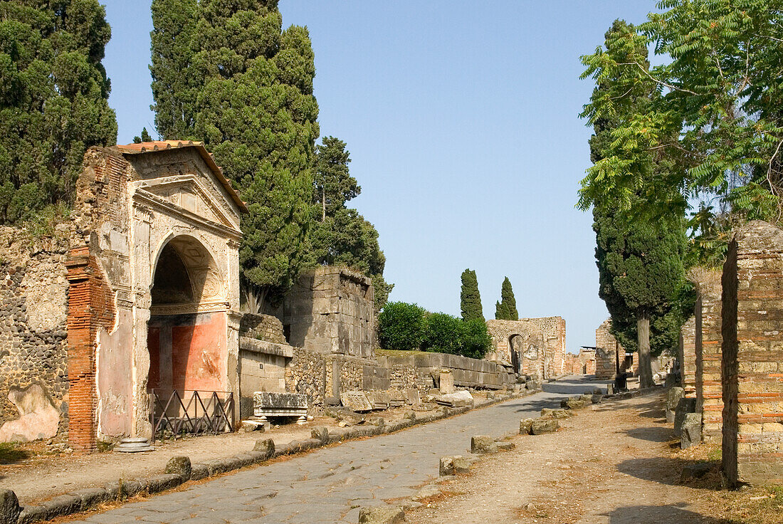
<path fill-rule="evenodd" d="M 322 266 L 302 275 L 283 300 L 290 345 L 373 358 L 375 304 L 370 278 L 349 269 Z"/>

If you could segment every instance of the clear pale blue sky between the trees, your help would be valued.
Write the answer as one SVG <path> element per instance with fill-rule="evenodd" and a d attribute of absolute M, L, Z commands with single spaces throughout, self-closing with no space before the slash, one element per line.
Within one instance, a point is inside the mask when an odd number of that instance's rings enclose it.
<path fill-rule="evenodd" d="M 108 0 L 120 143 L 150 111 L 150 2 Z M 576 210 L 590 164 L 579 112 L 593 89 L 579 56 L 615 18 L 655 2 L 283 0 L 283 25 L 309 28 L 322 136 L 348 143 L 381 235 L 391 299 L 460 314 L 460 273 L 475 269 L 494 318 L 503 276 L 521 316 L 563 316 L 568 349 L 594 345 L 595 237 Z"/>

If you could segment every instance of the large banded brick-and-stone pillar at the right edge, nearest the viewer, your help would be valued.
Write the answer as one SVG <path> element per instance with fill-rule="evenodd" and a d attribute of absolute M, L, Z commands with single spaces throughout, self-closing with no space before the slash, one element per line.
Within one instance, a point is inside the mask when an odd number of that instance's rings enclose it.
<path fill-rule="evenodd" d="M 723 265 L 723 475 L 783 482 L 783 231 L 749 222 Z"/>

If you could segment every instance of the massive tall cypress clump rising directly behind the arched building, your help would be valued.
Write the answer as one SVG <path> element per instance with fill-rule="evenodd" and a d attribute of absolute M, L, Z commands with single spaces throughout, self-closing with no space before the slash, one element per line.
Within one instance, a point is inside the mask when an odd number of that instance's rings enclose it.
<path fill-rule="evenodd" d="M 153 38 L 153 57 L 161 59 L 153 62 L 161 82 L 155 108 L 159 116 L 171 109 L 171 117 L 156 124 L 164 137 L 182 132 L 204 140 L 247 201 L 240 276 L 247 305 L 260 310 L 305 262 L 319 134 L 312 45 L 304 27 L 282 31 L 276 0 L 201 0 L 195 35 L 187 24 L 178 32 L 193 8 L 192 0 L 179 3 L 158 2 L 153 34 L 171 38 Z M 175 14 L 163 16 L 164 9 Z M 186 81 L 176 81 L 183 71 L 175 67 L 186 67 Z M 193 100 L 191 109 L 186 102 Z"/>

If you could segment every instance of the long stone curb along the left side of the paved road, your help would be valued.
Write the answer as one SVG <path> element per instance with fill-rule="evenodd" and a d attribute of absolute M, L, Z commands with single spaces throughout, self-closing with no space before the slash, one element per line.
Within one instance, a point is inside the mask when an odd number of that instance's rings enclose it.
<path fill-rule="evenodd" d="M 428 422 L 438 421 L 443 418 L 454 417 L 467 413 L 467 411 L 492 406 L 493 404 L 505 402 L 507 400 L 521 399 L 540 391 L 540 389 L 532 391 L 525 390 L 525 392 L 516 394 L 499 395 L 494 399 L 487 399 L 482 402 L 474 403 L 472 407 L 446 407 L 441 413 L 427 414 L 423 417 L 388 422 L 382 426 L 374 425 L 339 428 L 336 432 L 329 432 L 327 441 L 319 439 L 293 440 L 290 443 L 276 447 L 274 454 L 272 454 L 272 457 L 270 458 L 298 454 L 319 447 L 328 446 L 332 443 L 345 442 L 350 439 L 388 435 L 389 433 L 398 432 L 415 425 L 427 424 Z M 103 488 L 77 490 L 73 493 L 66 493 L 59 497 L 54 497 L 49 501 L 41 502 L 38 506 L 20 507 L 20 513 L 18 513 L 19 516 L 16 519 L 3 519 L 3 515 L 0 515 L 0 524 L 31 524 L 31 522 L 48 521 L 64 515 L 72 515 L 74 513 L 79 513 L 80 511 L 95 508 L 103 502 L 123 501 L 124 499 L 133 497 L 139 493 L 150 495 L 153 493 L 161 493 L 161 491 L 171 490 L 190 480 L 207 479 L 215 475 L 221 475 L 222 473 L 245 468 L 252 464 L 262 464 L 267 460 L 265 454 L 261 452 L 248 451 L 243 454 L 234 455 L 233 457 L 219 458 L 212 461 L 193 464 L 188 479 L 183 475 L 163 473 L 139 480 L 119 480 L 117 482 L 111 482 L 110 484 L 103 486 Z M 16 496 L 14 496 L 14 498 L 16 498 Z"/>

